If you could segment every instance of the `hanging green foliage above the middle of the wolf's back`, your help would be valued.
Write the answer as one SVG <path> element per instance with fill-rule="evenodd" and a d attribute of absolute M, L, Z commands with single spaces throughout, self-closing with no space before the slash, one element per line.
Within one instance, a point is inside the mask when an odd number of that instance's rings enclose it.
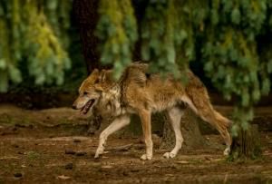
<path fill-rule="evenodd" d="M 195 11 L 192 7 L 199 7 Z M 141 54 L 151 61 L 151 72 L 180 76 L 195 58 L 195 25 L 206 12 L 199 1 L 150 1 L 141 22 Z M 183 17 L 183 18 L 180 18 Z"/>

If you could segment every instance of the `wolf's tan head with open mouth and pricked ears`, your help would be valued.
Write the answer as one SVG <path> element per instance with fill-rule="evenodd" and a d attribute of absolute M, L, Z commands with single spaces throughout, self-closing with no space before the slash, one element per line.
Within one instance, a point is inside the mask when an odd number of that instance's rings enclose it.
<path fill-rule="evenodd" d="M 112 84 L 112 71 L 94 69 L 79 88 L 79 96 L 73 102 L 73 109 L 81 110 L 86 114 L 100 100 L 102 92 L 109 89 Z"/>

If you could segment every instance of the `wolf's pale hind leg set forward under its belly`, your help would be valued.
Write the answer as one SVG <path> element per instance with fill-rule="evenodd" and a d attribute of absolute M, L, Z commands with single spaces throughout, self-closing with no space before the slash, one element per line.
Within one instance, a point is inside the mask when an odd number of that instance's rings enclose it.
<path fill-rule="evenodd" d="M 183 137 L 180 131 L 180 119 L 184 113 L 179 107 L 174 107 L 167 111 L 172 130 L 175 132 L 176 144 L 173 150 L 163 154 L 163 157 L 170 159 L 176 157 L 183 143 Z"/>

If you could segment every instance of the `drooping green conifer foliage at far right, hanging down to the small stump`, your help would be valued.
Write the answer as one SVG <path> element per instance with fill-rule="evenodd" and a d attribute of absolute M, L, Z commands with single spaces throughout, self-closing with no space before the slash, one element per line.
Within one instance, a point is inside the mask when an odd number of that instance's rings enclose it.
<path fill-rule="evenodd" d="M 215 21 L 213 14 L 219 18 Z M 220 15 L 219 15 L 220 14 Z M 230 100 L 236 98 L 232 128 L 247 130 L 252 105 L 270 90 L 268 47 L 259 48 L 258 36 L 267 24 L 266 0 L 221 1 L 212 5 L 201 49 L 205 72 Z M 259 50 L 267 50 L 263 56 Z M 268 67 L 267 67 L 268 68 Z M 260 80 L 261 77 L 261 80 Z"/>

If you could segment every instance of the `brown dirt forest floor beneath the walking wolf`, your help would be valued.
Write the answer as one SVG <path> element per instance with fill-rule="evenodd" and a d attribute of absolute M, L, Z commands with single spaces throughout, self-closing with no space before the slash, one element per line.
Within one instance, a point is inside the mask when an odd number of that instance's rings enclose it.
<path fill-rule="evenodd" d="M 219 111 L 229 112 L 228 107 Z M 230 163 L 219 135 L 211 146 L 162 157 L 154 136 L 153 160 L 140 160 L 144 145 L 135 136 L 115 135 L 101 159 L 93 159 L 98 135 L 68 108 L 26 111 L 0 105 L 0 183 L 272 183 L 272 108 L 259 108 L 263 158 Z M 270 124 L 270 126 L 269 126 Z M 268 128 L 267 128 L 268 127 Z"/>

